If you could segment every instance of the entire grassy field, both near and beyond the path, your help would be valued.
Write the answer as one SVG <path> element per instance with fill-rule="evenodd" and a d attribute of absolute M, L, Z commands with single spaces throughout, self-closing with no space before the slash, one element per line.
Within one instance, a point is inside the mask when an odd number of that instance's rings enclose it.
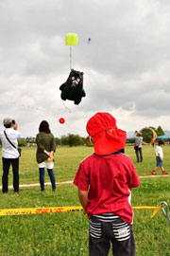
<path fill-rule="evenodd" d="M 60 147 L 57 149 L 54 172 L 57 181 L 73 180 L 79 162 L 93 153 L 93 148 Z M 141 176 L 141 186 L 132 192 L 133 206 L 156 206 L 161 201 L 170 205 L 170 174 L 149 177 L 155 167 L 155 152 L 151 146 L 143 148 L 144 162 L 137 163 L 132 146 L 126 147 Z M 163 148 L 164 168 L 170 169 L 170 147 Z M 0 174 L 2 165 L 0 163 Z M 158 175 L 161 171 L 158 171 Z M 148 177 L 142 177 L 147 176 Z M 49 182 L 47 174 L 45 181 Z M 20 184 L 39 183 L 35 148 L 23 148 L 20 158 Z M 9 174 L 9 185 L 12 174 Z M 1 183 L 0 183 L 1 185 Z M 79 205 L 74 185 L 22 188 L 20 195 L 0 193 L 1 209 Z M 134 234 L 137 256 L 170 255 L 170 227 L 161 210 L 151 219 L 152 210 L 134 210 Z M 89 221 L 81 211 L 40 215 L 0 217 L 0 256 L 87 256 Z M 111 254 L 110 254 L 111 255 Z"/>

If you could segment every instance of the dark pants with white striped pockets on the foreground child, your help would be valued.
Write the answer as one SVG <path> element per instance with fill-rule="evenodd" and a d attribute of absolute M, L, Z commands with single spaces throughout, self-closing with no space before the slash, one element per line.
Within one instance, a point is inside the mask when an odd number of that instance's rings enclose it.
<path fill-rule="evenodd" d="M 106 215 L 93 215 L 90 221 L 89 255 L 108 256 L 112 244 L 113 256 L 135 256 L 132 226 L 116 215 L 112 219 Z"/>

